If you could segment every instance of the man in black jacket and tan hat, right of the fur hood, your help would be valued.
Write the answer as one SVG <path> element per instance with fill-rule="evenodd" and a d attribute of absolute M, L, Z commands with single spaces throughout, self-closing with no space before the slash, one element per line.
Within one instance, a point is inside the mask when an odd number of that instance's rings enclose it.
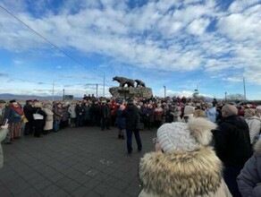
<path fill-rule="evenodd" d="M 234 197 L 241 196 L 236 178 L 252 156 L 248 124 L 237 114 L 237 107 L 224 105 L 215 131 L 216 155 L 223 161 L 223 178 Z"/>

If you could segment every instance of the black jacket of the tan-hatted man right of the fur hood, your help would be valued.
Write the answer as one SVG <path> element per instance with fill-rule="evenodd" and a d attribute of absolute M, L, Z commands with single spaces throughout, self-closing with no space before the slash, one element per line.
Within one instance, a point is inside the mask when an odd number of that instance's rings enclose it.
<path fill-rule="evenodd" d="M 225 166 L 242 168 L 252 156 L 248 124 L 242 117 L 221 118 L 214 137 L 216 155 Z"/>

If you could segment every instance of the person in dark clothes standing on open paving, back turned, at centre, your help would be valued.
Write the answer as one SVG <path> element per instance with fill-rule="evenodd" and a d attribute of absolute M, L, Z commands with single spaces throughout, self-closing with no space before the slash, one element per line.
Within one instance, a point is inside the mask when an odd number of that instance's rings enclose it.
<path fill-rule="evenodd" d="M 139 130 L 136 128 L 136 124 L 139 119 L 139 109 L 134 105 L 132 100 L 128 102 L 126 109 L 123 110 L 122 117 L 125 117 L 128 153 L 131 154 L 132 151 L 132 133 L 135 135 L 138 150 L 141 151 L 142 144 L 139 136 Z"/>

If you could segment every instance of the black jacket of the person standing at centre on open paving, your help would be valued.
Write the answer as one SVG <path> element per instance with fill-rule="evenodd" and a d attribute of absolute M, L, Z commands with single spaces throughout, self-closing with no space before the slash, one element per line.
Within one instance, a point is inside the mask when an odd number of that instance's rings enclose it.
<path fill-rule="evenodd" d="M 125 117 L 125 128 L 136 130 L 136 124 L 139 117 L 139 109 L 134 104 L 128 104 L 123 110 L 122 117 Z"/>

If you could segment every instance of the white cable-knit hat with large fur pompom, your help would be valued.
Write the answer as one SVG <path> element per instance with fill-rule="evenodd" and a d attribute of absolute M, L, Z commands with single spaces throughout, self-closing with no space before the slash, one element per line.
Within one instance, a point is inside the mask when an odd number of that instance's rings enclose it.
<path fill-rule="evenodd" d="M 157 130 L 157 140 L 165 153 L 176 150 L 194 151 L 206 146 L 212 139 L 211 130 L 216 124 L 198 117 L 189 119 L 188 124 L 174 122 L 163 124 Z"/>

